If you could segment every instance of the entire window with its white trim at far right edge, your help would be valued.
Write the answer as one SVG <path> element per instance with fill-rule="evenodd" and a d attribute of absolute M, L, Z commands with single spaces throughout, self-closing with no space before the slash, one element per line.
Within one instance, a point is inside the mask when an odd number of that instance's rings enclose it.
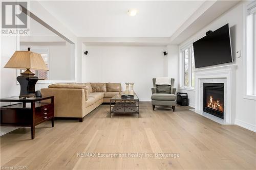
<path fill-rule="evenodd" d="M 256 59 L 255 59 L 255 50 L 253 51 L 253 46 L 255 46 L 255 40 L 256 39 L 256 18 L 252 19 L 252 23 L 248 23 L 248 16 L 253 15 L 252 17 L 256 17 L 256 2 L 249 2 L 247 4 L 244 4 L 243 7 L 243 74 L 244 74 L 244 82 L 245 82 L 245 88 L 244 88 L 244 99 L 248 100 L 256 100 Z M 251 17 L 251 16 L 250 16 Z M 251 19 L 251 18 L 250 18 Z M 250 28 L 248 28 L 250 27 Z M 250 39 L 248 39 L 248 32 L 250 32 L 252 35 L 249 37 L 252 38 L 250 43 Z M 254 43 L 253 43 L 254 41 Z M 248 44 L 250 43 L 250 44 Z M 254 48 L 255 49 L 255 48 Z"/>

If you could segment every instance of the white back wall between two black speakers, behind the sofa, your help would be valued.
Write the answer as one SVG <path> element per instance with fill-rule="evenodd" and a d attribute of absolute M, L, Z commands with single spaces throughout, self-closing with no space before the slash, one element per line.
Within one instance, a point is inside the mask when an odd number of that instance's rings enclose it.
<path fill-rule="evenodd" d="M 150 101 L 152 78 L 167 76 L 165 46 L 86 45 L 82 82 L 135 83 L 141 101 Z"/>

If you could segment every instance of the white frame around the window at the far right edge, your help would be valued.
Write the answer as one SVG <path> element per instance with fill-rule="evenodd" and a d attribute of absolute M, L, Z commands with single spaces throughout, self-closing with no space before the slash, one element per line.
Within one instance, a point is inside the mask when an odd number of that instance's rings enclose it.
<path fill-rule="evenodd" d="M 248 2 L 244 4 L 243 6 L 243 68 L 244 68 L 244 99 L 248 100 L 256 100 L 256 94 L 250 94 L 248 93 L 248 87 L 253 86 L 253 83 L 248 82 L 247 80 L 247 72 L 248 72 L 248 56 L 247 56 L 247 16 L 248 16 L 248 10 L 256 5 L 256 2 Z M 256 64 L 254 64 L 254 69 L 256 67 Z M 253 82 L 255 80 L 252 80 Z M 255 87 L 254 87 L 255 88 Z"/>

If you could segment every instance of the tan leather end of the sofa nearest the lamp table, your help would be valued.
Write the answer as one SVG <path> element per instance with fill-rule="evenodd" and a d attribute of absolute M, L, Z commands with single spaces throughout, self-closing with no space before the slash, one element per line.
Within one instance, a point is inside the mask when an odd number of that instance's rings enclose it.
<path fill-rule="evenodd" d="M 84 117 L 86 95 L 84 89 L 42 88 L 42 95 L 54 95 L 55 117 Z"/>

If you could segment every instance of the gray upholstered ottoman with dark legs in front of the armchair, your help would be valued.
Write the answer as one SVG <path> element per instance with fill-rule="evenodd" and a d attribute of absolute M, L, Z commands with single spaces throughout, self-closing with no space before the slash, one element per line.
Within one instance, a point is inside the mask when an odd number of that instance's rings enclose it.
<path fill-rule="evenodd" d="M 156 105 L 160 106 L 172 106 L 173 111 L 175 111 L 176 106 L 176 95 L 168 93 L 154 93 L 151 96 L 153 110 L 155 110 Z"/>

